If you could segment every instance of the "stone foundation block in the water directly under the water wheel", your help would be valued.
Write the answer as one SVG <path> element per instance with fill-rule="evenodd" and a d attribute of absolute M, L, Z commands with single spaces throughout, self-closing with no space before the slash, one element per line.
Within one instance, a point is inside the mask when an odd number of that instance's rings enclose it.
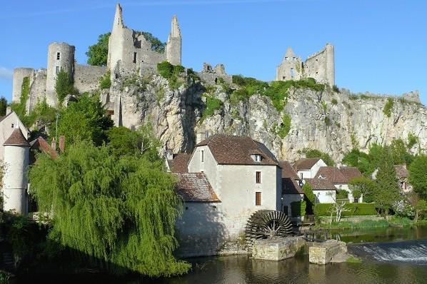
<path fill-rule="evenodd" d="M 252 247 L 252 258 L 263 260 L 293 258 L 305 244 L 306 240 L 302 237 L 255 240 Z"/>

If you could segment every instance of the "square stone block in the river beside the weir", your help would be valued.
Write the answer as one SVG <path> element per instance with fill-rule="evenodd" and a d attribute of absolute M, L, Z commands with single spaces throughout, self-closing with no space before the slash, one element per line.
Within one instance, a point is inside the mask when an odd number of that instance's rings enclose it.
<path fill-rule="evenodd" d="M 313 243 L 308 249 L 308 258 L 310 263 L 326 264 L 346 253 L 346 243 L 338 240 L 326 240 L 323 243 Z"/>

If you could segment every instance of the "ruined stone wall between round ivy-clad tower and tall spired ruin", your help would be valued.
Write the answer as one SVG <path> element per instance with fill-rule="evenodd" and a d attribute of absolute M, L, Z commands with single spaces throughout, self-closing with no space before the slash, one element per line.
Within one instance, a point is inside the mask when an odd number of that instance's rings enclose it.
<path fill-rule="evenodd" d="M 106 73 L 106 66 L 74 65 L 74 87 L 79 93 L 99 88 L 99 79 Z"/>

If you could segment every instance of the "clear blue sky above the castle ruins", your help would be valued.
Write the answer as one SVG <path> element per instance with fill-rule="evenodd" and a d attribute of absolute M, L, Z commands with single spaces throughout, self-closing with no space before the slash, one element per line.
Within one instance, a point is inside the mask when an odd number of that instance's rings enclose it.
<path fill-rule="evenodd" d="M 47 46 L 66 41 L 76 60 L 111 30 L 116 1 L 2 1 L 0 95 L 11 99 L 16 67 L 46 68 Z M 121 1 L 126 26 L 166 41 L 176 14 L 183 65 L 223 63 L 228 73 L 270 81 L 288 46 L 303 59 L 330 42 L 336 84 L 351 91 L 418 90 L 427 103 L 427 1 Z"/>

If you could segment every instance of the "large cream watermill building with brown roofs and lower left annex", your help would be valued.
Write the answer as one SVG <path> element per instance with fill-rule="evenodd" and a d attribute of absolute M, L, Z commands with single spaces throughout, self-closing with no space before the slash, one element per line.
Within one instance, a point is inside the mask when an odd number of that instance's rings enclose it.
<path fill-rule="evenodd" d="M 180 255 L 216 255 L 228 245 L 236 251 L 252 213 L 282 208 L 279 163 L 252 138 L 211 136 L 196 144 L 189 159 L 169 155 L 166 167 L 177 176 L 184 200 L 176 223 Z"/>

